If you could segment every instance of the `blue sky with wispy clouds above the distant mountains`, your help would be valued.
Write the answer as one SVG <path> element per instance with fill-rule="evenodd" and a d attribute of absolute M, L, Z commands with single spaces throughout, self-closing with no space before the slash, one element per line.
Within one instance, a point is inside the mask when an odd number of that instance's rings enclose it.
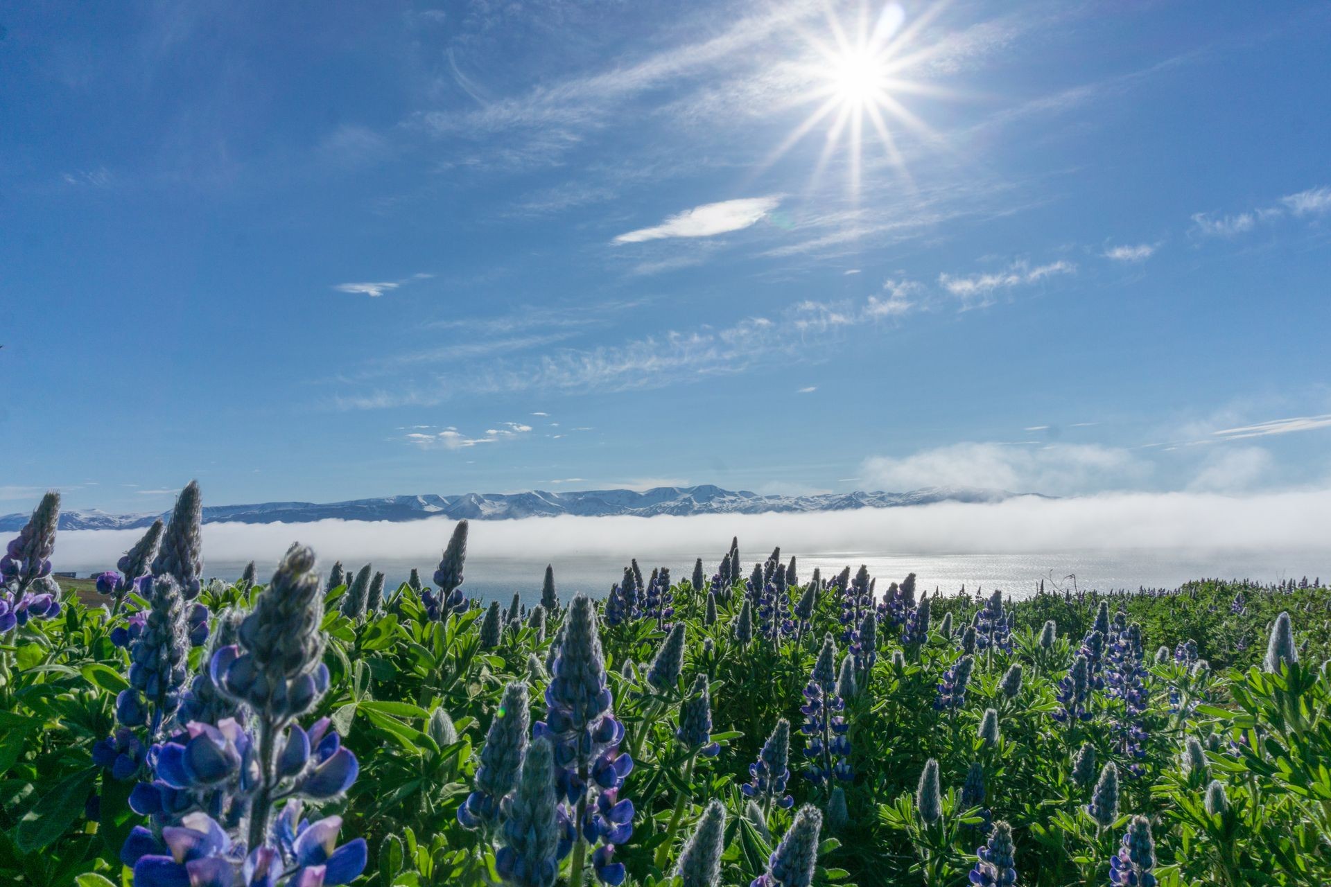
<path fill-rule="evenodd" d="M 1324 3 L 0 27 L 0 511 L 1331 480 Z"/>

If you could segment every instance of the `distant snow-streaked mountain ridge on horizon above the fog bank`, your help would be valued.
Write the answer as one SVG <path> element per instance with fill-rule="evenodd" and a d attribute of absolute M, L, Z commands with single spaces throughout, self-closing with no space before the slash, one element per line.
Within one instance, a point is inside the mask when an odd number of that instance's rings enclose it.
<path fill-rule="evenodd" d="M 760 496 L 747 489 L 729 491 L 711 484 L 654 487 L 652 489 L 587 489 L 580 492 L 531 491 L 526 493 L 463 493 L 461 496 L 387 496 L 339 503 L 258 503 L 208 505 L 204 523 L 303 524 L 315 520 L 409 521 L 445 516 L 453 520 L 512 520 L 518 517 L 583 517 L 656 515 L 760 515 L 765 512 L 847 511 L 852 508 L 898 508 L 940 501 L 993 503 L 1020 495 L 1001 489 L 925 487 L 904 493 L 851 492 L 809 496 Z M 1038 493 L 1034 493 L 1038 495 Z M 102 511 L 67 511 L 60 529 L 133 529 L 148 527 L 161 515 L 109 515 Z M 0 531 L 12 532 L 28 520 L 27 513 L 0 516 Z"/>

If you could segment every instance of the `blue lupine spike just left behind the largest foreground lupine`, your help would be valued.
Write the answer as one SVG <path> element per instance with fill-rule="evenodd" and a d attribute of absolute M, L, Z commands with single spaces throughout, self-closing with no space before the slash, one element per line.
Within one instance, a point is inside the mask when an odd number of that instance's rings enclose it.
<path fill-rule="evenodd" d="M 145 578 L 142 588 L 148 610 L 129 646 L 129 688 L 116 697 L 116 719 L 130 727 L 148 723 L 156 738 L 176 715 L 189 676 L 189 626 L 173 577 Z"/>

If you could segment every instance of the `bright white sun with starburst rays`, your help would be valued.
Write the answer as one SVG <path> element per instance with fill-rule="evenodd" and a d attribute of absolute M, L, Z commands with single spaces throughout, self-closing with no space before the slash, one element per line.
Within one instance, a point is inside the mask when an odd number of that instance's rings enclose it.
<path fill-rule="evenodd" d="M 805 86 L 792 98 L 792 104 L 813 105 L 813 110 L 772 152 L 765 165 L 775 162 L 821 124 L 825 144 L 813 172 L 815 182 L 831 158 L 841 152 L 847 160 L 851 195 L 857 198 L 866 138 L 876 142 L 874 149 L 881 150 L 909 181 L 897 146 L 898 134 L 910 130 L 929 140 L 937 137 L 902 104 L 902 98 L 944 94 L 910 77 L 912 68 L 937 52 L 936 48 L 914 44 L 940 8 L 934 5 L 908 23 L 897 3 L 888 3 L 876 11 L 862 3 L 848 25 L 828 7 L 825 29 L 803 35 L 807 52 L 799 68 Z"/>

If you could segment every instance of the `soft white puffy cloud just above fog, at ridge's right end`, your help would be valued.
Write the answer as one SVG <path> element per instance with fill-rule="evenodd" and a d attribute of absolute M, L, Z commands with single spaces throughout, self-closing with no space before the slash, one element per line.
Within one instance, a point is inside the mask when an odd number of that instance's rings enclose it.
<path fill-rule="evenodd" d="M 873 456 L 860 471 L 876 489 L 964 487 L 1046 495 L 1127 485 L 1149 472 L 1147 463 L 1121 448 L 998 443 L 957 443 L 909 456 Z"/>

